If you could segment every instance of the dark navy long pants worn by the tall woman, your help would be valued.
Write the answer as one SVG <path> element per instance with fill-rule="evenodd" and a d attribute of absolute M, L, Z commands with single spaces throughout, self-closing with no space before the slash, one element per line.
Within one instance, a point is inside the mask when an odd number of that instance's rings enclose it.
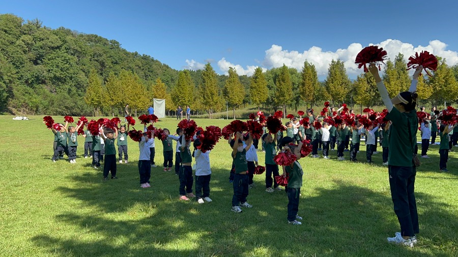
<path fill-rule="evenodd" d="M 388 166 L 391 199 L 401 236 L 413 237 L 420 233 L 414 192 L 416 174 L 416 167 Z"/>

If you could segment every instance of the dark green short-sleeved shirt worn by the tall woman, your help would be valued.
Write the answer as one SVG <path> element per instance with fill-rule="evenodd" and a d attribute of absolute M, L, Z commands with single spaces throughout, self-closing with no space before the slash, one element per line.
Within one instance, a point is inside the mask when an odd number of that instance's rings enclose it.
<path fill-rule="evenodd" d="M 399 112 L 393 108 L 386 115 L 391 120 L 390 134 L 388 138 L 388 163 L 392 166 L 412 167 L 414 166 L 412 154 L 417 143 L 418 118 L 416 110 L 410 112 Z M 409 127 L 411 137 L 409 138 Z"/>

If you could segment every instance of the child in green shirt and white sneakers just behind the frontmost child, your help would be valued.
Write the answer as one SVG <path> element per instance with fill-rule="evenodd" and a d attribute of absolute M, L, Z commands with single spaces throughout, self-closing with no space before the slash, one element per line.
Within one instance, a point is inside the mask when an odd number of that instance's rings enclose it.
<path fill-rule="evenodd" d="M 275 178 L 275 176 L 280 175 L 278 173 L 278 165 L 273 160 L 275 155 L 277 155 L 277 151 L 275 150 L 275 145 L 277 142 L 277 134 L 275 134 L 275 136 L 272 139 L 272 135 L 270 133 L 266 133 L 263 135 L 262 139 L 263 139 L 264 148 L 266 149 L 266 159 L 265 159 L 266 192 L 273 192 L 274 189 L 281 190 L 281 188 L 277 184 L 277 181 L 273 179 Z M 274 188 L 272 188 L 272 182 L 273 182 Z"/>

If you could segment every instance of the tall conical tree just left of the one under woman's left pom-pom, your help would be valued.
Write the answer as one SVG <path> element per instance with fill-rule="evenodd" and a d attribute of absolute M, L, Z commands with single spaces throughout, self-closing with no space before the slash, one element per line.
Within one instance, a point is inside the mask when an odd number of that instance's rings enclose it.
<path fill-rule="evenodd" d="M 325 80 L 326 96 L 333 102 L 344 101 L 349 91 L 351 82 L 345 70 L 344 61 L 332 60 L 329 64 L 328 76 Z"/>

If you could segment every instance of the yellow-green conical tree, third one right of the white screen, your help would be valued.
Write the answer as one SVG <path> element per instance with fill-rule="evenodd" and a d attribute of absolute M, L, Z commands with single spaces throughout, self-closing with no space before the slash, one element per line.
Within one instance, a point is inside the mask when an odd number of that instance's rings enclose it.
<path fill-rule="evenodd" d="M 235 119 L 235 109 L 243 103 L 243 97 L 245 95 L 245 90 L 240 83 L 239 75 L 237 71 L 229 67 L 228 78 L 224 84 L 224 99 L 227 101 L 228 105 L 233 108 L 233 114 Z"/>

